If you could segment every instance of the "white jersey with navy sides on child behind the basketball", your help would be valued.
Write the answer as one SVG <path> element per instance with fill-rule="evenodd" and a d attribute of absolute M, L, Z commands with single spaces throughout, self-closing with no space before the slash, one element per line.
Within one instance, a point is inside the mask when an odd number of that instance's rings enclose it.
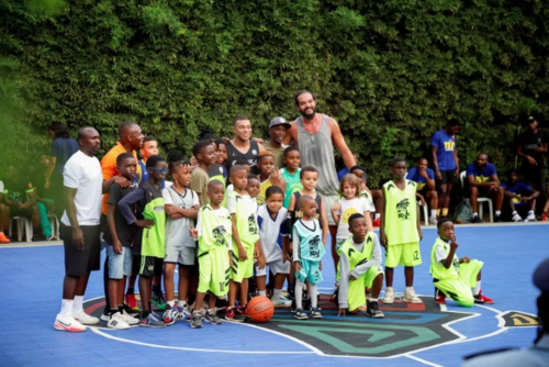
<path fill-rule="evenodd" d="M 267 263 L 282 259 L 282 237 L 288 236 L 287 218 L 285 208 L 281 208 L 274 219 L 269 213 L 267 204 L 262 204 L 257 210 L 259 240 Z"/>

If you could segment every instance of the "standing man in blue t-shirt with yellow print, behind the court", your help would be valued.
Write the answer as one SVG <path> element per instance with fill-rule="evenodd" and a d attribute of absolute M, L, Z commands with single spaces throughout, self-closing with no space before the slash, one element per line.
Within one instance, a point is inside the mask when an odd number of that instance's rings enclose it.
<path fill-rule="evenodd" d="M 433 168 L 437 182 L 438 202 L 442 207 L 442 213 L 438 216 L 448 216 L 450 208 L 450 193 L 453 181 L 459 176 L 458 148 L 456 146 L 456 134 L 459 132 L 460 122 L 451 119 L 446 123 L 446 129 L 437 131 L 430 141 L 433 154 Z M 437 214 L 438 211 L 437 211 Z"/>

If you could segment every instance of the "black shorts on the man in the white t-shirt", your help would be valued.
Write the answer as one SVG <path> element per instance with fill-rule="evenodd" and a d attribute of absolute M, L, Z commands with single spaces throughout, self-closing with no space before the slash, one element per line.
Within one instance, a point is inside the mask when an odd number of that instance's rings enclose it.
<path fill-rule="evenodd" d="M 83 248 L 72 243 L 72 229 L 63 224 L 63 244 L 65 247 L 65 274 L 81 277 L 99 270 L 101 260 L 101 238 L 99 225 L 80 226 L 83 233 Z"/>

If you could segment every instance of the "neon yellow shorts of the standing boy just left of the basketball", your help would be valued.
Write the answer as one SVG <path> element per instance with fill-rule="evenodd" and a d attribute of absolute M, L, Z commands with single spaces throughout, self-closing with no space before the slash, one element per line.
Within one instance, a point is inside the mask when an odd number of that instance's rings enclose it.
<path fill-rule="evenodd" d="M 199 256 L 199 288 L 205 293 L 211 291 L 217 297 L 228 292 L 229 264 L 228 249 L 224 246 Z"/>

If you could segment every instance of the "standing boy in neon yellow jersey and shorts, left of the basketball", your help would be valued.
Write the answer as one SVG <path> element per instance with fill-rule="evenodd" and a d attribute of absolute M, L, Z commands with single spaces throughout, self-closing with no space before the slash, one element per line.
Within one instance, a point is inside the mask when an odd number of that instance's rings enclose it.
<path fill-rule="evenodd" d="M 199 289 L 194 310 L 192 311 L 191 327 L 202 327 L 200 307 L 208 291 L 209 309 L 205 321 L 214 325 L 221 324 L 215 313 L 216 298 L 224 299 L 228 291 L 229 264 L 233 256 L 231 242 L 231 215 L 226 208 L 221 207 L 225 197 L 223 182 L 212 180 L 208 184 L 210 203 L 200 208 L 197 229 L 190 229 L 191 236 L 199 241 Z"/>

